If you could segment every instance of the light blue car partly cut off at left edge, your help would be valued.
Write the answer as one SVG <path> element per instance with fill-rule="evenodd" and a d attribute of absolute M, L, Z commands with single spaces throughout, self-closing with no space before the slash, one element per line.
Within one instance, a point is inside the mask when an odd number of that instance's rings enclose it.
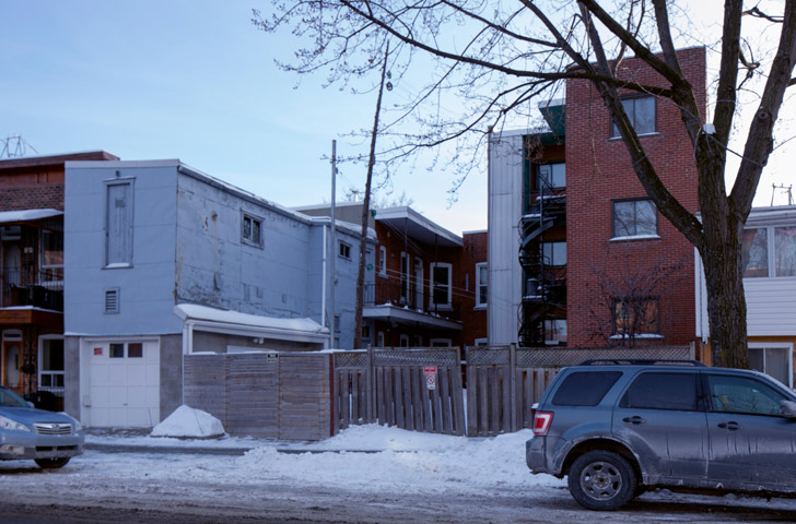
<path fill-rule="evenodd" d="M 32 406 L 0 385 L 0 461 L 33 458 L 40 467 L 55 468 L 83 453 L 85 433 L 78 420 Z"/>

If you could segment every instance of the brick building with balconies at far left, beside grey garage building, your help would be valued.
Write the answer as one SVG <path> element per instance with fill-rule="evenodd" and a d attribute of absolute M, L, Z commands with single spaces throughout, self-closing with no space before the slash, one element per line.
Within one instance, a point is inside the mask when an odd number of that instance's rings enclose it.
<path fill-rule="evenodd" d="M 0 383 L 62 408 L 65 163 L 103 151 L 0 160 Z"/>

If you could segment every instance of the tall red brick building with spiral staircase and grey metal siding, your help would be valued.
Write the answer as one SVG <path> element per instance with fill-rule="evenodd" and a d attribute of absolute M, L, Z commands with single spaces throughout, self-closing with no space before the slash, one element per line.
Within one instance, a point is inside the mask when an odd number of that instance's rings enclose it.
<path fill-rule="evenodd" d="M 678 58 L 704 115 L 705 50 Z M 665 86 L 637 59 L 623 60 L 619 74 Z M 624 94 L 660 179 L 696 212 L 696 166 L 679 109 Z M 693 248 L 647 198 L 599 94 L 569 80 L 565 102 L 540 111 L 549 130 L 491 139 L 490 345 L 689 344 Z"/>

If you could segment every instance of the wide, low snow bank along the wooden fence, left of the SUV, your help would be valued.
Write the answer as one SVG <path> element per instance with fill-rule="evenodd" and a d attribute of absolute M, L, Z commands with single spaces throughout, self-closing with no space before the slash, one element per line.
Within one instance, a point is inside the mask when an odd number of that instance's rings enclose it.
<path fill-rule="evenodd" d="M 529 474 L 525 442 L 531 434 L 530 430 L 523 430 L 489 439 L 468 439 L 375 425 L 352 427 L 314 448 L 386 451 L 285 454 L 266 445 L 236 458 L 233 471 L 242 483 L 264 479 L 317 486 L 342 483 L 348 488 L 370 492 L 499 495 L 506 489 L 565 486 L 557 478 Z"/>

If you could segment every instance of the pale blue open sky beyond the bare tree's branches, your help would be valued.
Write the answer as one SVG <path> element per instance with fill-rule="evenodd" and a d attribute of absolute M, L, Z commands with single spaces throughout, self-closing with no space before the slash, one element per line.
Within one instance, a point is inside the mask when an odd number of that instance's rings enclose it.
<path fill-rule="evenodd" d="M 42 155 L 179 158 L 285 206 L 329 202 L 331 142 L 338 155 L 366 153 L 366 141 L 347 135 L 372 127 L 375 93 L 324 88 L 323 78 L 279 70 L 274 58 L 292 50 L 251 24 L 251 9 L 269 5 L 0 0 L 0 139 L 21 135 Z M 789 183 L 783 150 L 771 166 L 756 205 L 769 205 L 772 183 Z M 363 165 L 339 170 L 338 200 L 364 187 Z M 471 174 L 449 204 L 454 178 L 406 165 L 382 196 L 403 194 L 456 234 L 485 229 L 485 170 Z"/>

